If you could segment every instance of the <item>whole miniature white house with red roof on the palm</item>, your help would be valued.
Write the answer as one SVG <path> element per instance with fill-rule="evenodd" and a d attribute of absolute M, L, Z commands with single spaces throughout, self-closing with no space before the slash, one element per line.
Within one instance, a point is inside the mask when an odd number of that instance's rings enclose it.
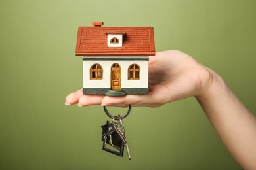
<path fill-rule="evenodd" d="M 147 94 L 148 56 L 155 55 L 152 27 L 79 27 L 76 56 L 83 56 L 83 94 Z"/>

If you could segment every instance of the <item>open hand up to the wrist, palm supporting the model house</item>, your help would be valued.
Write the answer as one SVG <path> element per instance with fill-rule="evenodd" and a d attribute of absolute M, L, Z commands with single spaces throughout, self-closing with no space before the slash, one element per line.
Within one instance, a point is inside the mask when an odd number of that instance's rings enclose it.
<path fill-rule="evenodd" d="M 83 95 L 83 90 L 70 93 L 66 105 L 127 105 L 160 107 L 171 101 L 202 95 L 211 85 L 214 73 L 194 58 L 177 50 L 158 52 L 149 59 L 148 95 Z"/>

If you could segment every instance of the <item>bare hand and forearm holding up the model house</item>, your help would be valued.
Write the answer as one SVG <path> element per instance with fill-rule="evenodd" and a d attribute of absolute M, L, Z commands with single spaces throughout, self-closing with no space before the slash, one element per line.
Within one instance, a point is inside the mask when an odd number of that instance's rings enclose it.
<path fill-rule="evenodd" d="M 160 107 L 196 97 L 226 148 L 243 169 L 256 169 L 256 116 L 211 69 L 177 50 L 158 52 L 149 59 L 148 95 L 83 95 L 70 93 L 66 105 Z"/>

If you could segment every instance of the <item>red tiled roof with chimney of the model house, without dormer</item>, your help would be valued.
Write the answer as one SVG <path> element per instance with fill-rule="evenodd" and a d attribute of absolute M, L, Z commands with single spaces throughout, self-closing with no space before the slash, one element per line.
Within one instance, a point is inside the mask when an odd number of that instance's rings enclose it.
<path fill-rule="evenodd" d="M 154 29 L 152 27 L 102 27 L 103 22 L 93 22 L 94 27 L 79 27 L 75 55 L 140 55 L 154 56 Z M 108 47 L 108 34 L 122 34 L 121 47 Z"/>

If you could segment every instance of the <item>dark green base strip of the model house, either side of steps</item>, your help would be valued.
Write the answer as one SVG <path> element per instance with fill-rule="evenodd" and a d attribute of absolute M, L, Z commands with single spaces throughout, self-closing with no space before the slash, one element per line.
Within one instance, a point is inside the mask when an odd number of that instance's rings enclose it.
<path fill-rule="evenodd" d="M 105 95 L 110 88 L 83 88 L 83 94 L 89 95 Z M 127 94 L 148 94 L 148 88 L 122 88 L 123 92 Z"/>

